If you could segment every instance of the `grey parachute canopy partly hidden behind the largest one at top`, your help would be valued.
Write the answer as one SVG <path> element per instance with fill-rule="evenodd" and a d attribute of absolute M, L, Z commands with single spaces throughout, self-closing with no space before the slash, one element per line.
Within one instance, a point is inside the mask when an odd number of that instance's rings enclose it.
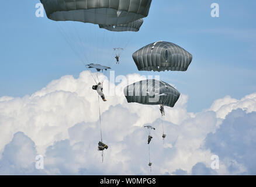
<path fill-rule="evenodd" d="M 143 19 L 138 19 L 138 20 L 135 20 L 134 22 L 130 22 L 127 24 L 99 25 L 99 27 L 102 29 L 106 29 L 114 32 L 125 32 L 125 31 L 138 32 L 142 24 L 143 24 Z"/>

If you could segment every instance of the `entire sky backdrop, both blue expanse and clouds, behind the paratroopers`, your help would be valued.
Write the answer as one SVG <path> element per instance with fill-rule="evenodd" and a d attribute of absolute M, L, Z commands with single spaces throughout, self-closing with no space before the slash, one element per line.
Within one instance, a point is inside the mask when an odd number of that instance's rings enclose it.
<path fill-rule="evenodd" d="M 4 1 L 0 8 L 0 175 L 255 175 L 256 2 L 153 0 L 137 33 L 36 18 L 38 2 Z M 213 2 L 220 18 L 210 16 Z M 188 71 L 137 70 L 132 53 L 158 40 L 193 55 Z M 125 47 L 119 65 L 113 47 Z M 160 75 L 184 94 L 161 117 L 158 106 L 127 103 L 124 82 L 116 82 L 117 96 L 107 95 L 100 120 L 94 80 L 78 57 L 134 81 Z M 103 164 L 100 122 L 109 146 Z M 152 172 L 146 124 L 155 127 Z M 36 155 L 43 170 L 34 167 Z M 211 167 L 212 155 L 219 169 Z"/>

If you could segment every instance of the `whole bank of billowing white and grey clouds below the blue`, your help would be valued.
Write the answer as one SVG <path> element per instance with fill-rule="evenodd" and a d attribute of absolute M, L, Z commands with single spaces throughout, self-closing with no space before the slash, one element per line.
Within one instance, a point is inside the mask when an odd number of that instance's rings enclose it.
<path fill-rule="evenodd" d="M 255 135 L 246 115 L 256 111 L 256 93 L 244 98 L 226 96 L 217 99 L 210 109 L 200 113 L 188 113 L 188 96 L 181 94 L 174 108 L 165 108 L 160 117 L 158 106 L 127 103 L 123 88 L 127 84 L 145 79 L 139 74 L 104 80 L 103 89 L 108 102 L 101 103 L 103 141 L 109 149 L 97 150 L 100 140 L 98 95 L 91 89 L 95 84 L 89 71 L 79 78 L 70 75 L 50 82 L 45 88 L 23 98 L 0 98 L 0 174 L 53 174 L 53 175 L 122 175 L 122 174 L 252 174 L 254 165 L 248 165 L 249 153 L 253 152 L 250 136 Z M 170 82 L 171 83 L 171 82 Z M 113 94 L 115 93 L 115 94 Z M 244 116 L 234 115 L 236 109 Z M 237 120 L 240 116 L 245 121 Z M 230 144 L 227 152 L 238 147 L 238 137 L 227 140 L 227 120 L 236 122 L 244 137 L 246 154 L 228 156 L 221 148 Z M 233 121 L 232 121 L 233 120 Z M 145 124 L 154 126 L 150 144 L 153 170 L 149 161 Z M 250 124 L 250 125 L 249 125 Z M 165 142 L 162 141 L 162 125 Z M 226 127 L 227 126 L 227 127 Z M 249 133 L 250 131 L 250 133 Z M 246 133 L 245 133 L 246 132 Z M 225 141 L 220 137 L 226 137 Z M 246 139 L 246 140 L 245 140 Z M 219 141 L 217 141 L 219 140 Z M 44 169 L 34 169 L 37 154 L 44 156 Z M 220 169 L 210 168 L 211 155 L 220 156 Z M 233 168 L 233 169 L 230 169 Z M 234 169 L 236 168 L 236 169 Z M 236 171 L 235 171 L 236 170 Z"/>

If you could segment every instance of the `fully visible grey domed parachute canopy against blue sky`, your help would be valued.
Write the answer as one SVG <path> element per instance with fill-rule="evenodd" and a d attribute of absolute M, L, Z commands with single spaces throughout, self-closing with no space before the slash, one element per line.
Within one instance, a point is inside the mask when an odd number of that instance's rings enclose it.
<path fill-rule="evenodd" d="M 192 55 L 177 44 L 157 41 L 133 53 L 139 71 L 186 71 Z"/>

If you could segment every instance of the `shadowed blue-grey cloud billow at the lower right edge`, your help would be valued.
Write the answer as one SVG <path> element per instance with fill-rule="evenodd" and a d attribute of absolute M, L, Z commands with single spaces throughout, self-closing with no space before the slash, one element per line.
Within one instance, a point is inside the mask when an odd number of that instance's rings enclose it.
<path fill-rule="evenodd" d="M 233 110 L 216 133 L 209 133 L 205 147 L 219 155 L 229 174 L 256 174 L 256 112 Z"/>

